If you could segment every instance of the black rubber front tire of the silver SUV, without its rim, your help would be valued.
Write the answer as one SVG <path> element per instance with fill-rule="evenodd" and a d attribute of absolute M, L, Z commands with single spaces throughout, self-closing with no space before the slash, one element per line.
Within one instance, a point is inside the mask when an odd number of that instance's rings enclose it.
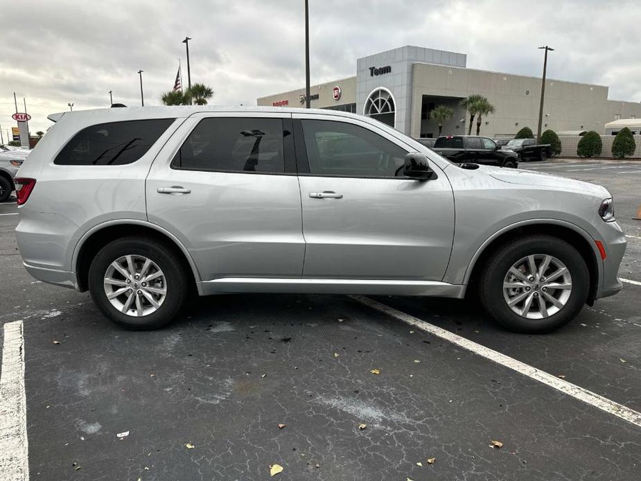
<path fill-rule="evenodd" d="M 565 306 L 543 319 L 532 320 L 513 312 L 503 295 L 503 281 L 514 263 L 532 254 L 559 259 L 570 271 L 572 290 Z M 583 308 L 590 288 L 586 261 L 572 245 L 553 236 L 531 236 L 506 243 L 484 265 L 479 283 L 480 301 L 489 315 L 510 331 L 548 333 L 568 324 Z"/>

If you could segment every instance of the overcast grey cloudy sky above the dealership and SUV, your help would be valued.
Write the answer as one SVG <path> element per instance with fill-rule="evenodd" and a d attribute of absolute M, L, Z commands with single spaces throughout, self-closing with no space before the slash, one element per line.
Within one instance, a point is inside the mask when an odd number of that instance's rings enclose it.
<path fill-rule="evenodd" d="M 613 6 L 616 8 L 613 8 Z M 0 0 L 0 126 L 13 91 L 27 101 L 31 132 L 46 115 L 146 105 L 173 87 L 190 42 L 191 78 L 219 105 L 304 85 L 303 0 Z M 406 44 L 468 54 L 468 67 L 610 87 L 614 100 L 641 101 L 641 2 L 620 0 L 310 0 L 312 82 L 355 74 L 355 59 Z M 5 139 L 6 140 L 6 139 Z"/>

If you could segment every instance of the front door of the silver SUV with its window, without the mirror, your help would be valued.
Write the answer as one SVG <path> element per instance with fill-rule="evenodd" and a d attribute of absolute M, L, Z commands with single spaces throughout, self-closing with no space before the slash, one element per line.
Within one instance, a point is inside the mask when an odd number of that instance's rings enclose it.
<path fill-rule="evenodd" d="M 295 114 L 303 277 L 440 281 L 454 234 L 446 175 L 398 177 L 414 151 L 358 119 Z M 402 173 L 400 174 L 402 175 Z"/>

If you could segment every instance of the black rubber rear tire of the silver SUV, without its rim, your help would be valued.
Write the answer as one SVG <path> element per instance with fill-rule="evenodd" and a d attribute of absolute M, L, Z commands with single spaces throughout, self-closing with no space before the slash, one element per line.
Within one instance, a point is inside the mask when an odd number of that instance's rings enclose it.
<path fill-rule="evenodd" d="M 104 277 L 109 265 L 116 259 L 127 256 L 145 256 L 164 273 L 166 279 L 166 297 L 157 311 L 141 317 L 134 317 L 118 311 L 107 299 L 104 288 Z M 123 237 L 105 245 L 89 268 L 89 292 L 96 306 L 110 320 L 132 331 L 159 329 L 169 322 L 181 317 L 189 297 L 189 279 L 191 272 L 182 261 L 164 243 L 152 238 Z"/>

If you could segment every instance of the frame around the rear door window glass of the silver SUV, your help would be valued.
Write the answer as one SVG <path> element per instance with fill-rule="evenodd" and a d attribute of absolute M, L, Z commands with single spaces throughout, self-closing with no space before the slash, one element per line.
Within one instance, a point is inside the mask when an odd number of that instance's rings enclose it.
<path fill-rule="evenodd" d="M 290 116 L 263 116 L 257 114 L 256 112 L 251 112 L 252 115 L 229 115 L 231 112 L 225 112 L 225 114 L 220 115 L 205 115 L 205 116 L 193 116 L 195 120 L 193 126 L 189 131 L 184 135 L 182 139 L 177 144 L 177 148 L 173 150 L 169 158 L 169 168 L 171 170 L 186 170 L 189 172 L 211 172 L 211 173 L 228 173 L 228 174 L 249 174 L 249 175 L 297 175 L 296 170 L 296 154 L 294 148 L 294 126 L 292 125 L 292 118 Z M 236 112 L 234 112 L 236 113 Z M 173 165 L 174 158 L 179 150 L 182 148 L 183 144 L 187 141 L 192 132 L 197 128 L 202 121 L 208 119 L 261 119 L 269 120 L 275 119 L 279 120 L 283 124 L 283 172 L 256 172 L 254 170 L 227 170 L 227 169 L 216 169 L 216 168 L 195 168 L 195 167 L 177 167 Z M 284 132 L 290 132 L 289 135 L 285 135 Z"/>

